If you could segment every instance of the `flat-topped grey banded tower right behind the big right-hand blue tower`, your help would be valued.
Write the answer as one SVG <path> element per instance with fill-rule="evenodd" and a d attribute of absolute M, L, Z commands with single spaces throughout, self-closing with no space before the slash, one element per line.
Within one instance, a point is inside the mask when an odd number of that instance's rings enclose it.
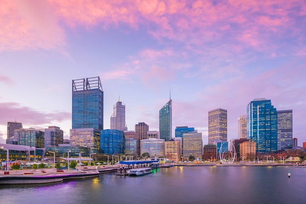
<path fill-rule="evenodd" d="M 277 149 L 292 149 L 292 110 L 277 111 Z"/>

